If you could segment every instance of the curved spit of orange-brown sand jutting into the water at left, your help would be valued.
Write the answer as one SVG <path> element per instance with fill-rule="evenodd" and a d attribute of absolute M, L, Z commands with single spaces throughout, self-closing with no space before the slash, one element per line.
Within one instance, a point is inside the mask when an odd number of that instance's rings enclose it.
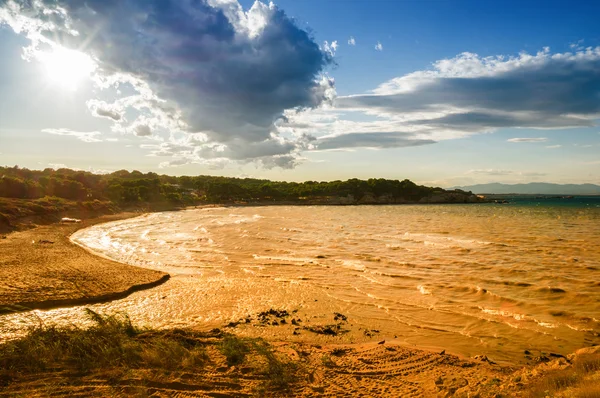
<path fill-rule="evenodd" d="M 105 259 L 69 240 L 78 229 L 137 215 L 121 213 L 0 236 L 0 314 L 114 300 L 165 282 L 165 272 Z"/>

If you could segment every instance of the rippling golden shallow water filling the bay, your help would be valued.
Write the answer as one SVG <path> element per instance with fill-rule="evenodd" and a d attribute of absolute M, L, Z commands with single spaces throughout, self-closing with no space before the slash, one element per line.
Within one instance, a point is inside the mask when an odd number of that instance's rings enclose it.
<path fill-rule="evenodd" d="M 90 306 L 151 326 L 215 327 L 301 308 L 344 313 L 355 329 L 380 330 L 377 338 L 512 363 L 525 349 L 600 344 L 597 207 L 210 208 L 96 225 L 72 239 L 172 275 Z M 40 319 L 84 318 L 77 307 L 10 315 L 0 332 Z"/>

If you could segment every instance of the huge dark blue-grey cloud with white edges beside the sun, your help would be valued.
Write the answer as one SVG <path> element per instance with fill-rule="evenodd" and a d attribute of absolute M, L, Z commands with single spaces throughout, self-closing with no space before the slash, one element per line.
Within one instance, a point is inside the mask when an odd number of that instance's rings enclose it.
<path fill-rule="evenodd" d="M 272 3 L 1 0 L 2 21 L 31 39 L 31 58 L 58 47 L 89 54 L 99 86 L 133 91 L 90 100 L 91 113 L 139 136 L 154 124 L 252 146 L 272 139 L 284 110 L 318 107 L 334 92 L 323 71 L 337 42 L 321 49 Z M 132 108 L 152 121 L 127 124 Z"/>

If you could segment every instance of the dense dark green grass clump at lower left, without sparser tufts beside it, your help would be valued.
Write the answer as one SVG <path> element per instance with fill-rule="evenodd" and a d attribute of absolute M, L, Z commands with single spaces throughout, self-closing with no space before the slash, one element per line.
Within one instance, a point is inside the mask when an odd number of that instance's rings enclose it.
<path fill-rule="evenodd" d="M 56 368 L 188 368 L 206 359 L 202 345 L 186 342 L 176 331 L 152 334 L 134 326 L 125 314 L 86 311 L 94 321 L 88 329 L 40 325 L 25 338 L 0 346 L 0 372 L 10 377 Z"/>

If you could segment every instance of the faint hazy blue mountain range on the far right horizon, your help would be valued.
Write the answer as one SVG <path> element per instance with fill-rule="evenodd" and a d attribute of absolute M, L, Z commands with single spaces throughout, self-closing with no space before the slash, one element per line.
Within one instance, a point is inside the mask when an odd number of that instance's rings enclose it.
<path fill-rule="evenodd" d="M 478 194 L 520 194 L 520 195 L 600 195 L 600 185 L 594 184 L 550 184 L 532 182 L 529 184 L 477 184 L 454 187 Z"/>

